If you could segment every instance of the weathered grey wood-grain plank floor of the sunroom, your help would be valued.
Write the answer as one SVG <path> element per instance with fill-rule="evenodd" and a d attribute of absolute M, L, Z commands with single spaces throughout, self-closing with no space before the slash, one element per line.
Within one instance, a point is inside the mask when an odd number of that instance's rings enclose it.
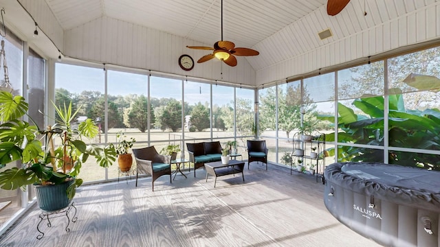
<path fill-rule="evenodd" d="M 323 185 L 289 169 L 252 163 L 241 176 L 205 182 L 206 172 L 80 187 L 78 221 L 36 226 L 34 206 L 0 237 L 0 246 L 380 246 L 340 224 L 325 209 Z"/>

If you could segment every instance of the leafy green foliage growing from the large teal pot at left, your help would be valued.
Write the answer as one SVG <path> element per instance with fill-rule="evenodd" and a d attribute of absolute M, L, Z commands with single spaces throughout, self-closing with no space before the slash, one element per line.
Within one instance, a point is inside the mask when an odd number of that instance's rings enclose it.
<path fill-rule="evenodd" d="M 23 97 L 0 91 L 0 167 L 12 162 L 21 165 L 0 169 L 1 189 L 25 189 L 32 184 L 57 185 L 75 179 L 66 191 L 67 197 L 72 199 L 76 188 L 83 183 L 78 175 L 89 156 L 94 156 L 101 167 L 113 164 L 116 159 L 113 145 L 101 147 L 83 141 L 83 137 L 93 139 L 98 134 L 94 121 L 87 119 L 74 128 L 72 122 L 78 110 L 72 112 L 72 102 L 69 106 L 55 108 L 61 121 L 53 128 L 41 130 L 36 123 L 31 125 L 23 121 L 25 115 L 32 121 Z M 57 148 L 52 147 L 55 138 L 60 139 Z M 66 169 L 68 164 L 73 167 Z"/>

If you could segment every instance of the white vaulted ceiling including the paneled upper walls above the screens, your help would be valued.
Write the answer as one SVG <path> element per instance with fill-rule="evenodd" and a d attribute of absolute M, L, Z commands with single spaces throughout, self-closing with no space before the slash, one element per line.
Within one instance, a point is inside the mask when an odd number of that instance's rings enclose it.
<path fill-rule="evenodd" d="M 182 71 L 221 39 L 221 0 L 0 0 L 5 23 L 45 57 L 139 68 L 251 86 L 331 71 L 347 62 L 440 43 L 440 0 L 351 0 L 336 16 L 327 0 L 223 0 L 223 39 L 259 56 Z M 364 12 L 367 14 L 365 15 Z M 45 34 L 32 38 L 39 23 Z M 330 29 L 333 36 L 320 39 Z M 58 51 L 60 50 L 60 51 Z M 378 56 L 376 56 L 378 55 Z"/>

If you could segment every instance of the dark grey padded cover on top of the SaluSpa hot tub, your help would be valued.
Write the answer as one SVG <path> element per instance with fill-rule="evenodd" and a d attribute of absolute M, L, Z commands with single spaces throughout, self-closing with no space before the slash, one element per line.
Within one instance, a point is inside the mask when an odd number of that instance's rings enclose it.
<path fill-rule="evenodd" d="M 440 212 L 440 172 L 384 163 L 334 163 L 325 180 L 356 193 Z"/>

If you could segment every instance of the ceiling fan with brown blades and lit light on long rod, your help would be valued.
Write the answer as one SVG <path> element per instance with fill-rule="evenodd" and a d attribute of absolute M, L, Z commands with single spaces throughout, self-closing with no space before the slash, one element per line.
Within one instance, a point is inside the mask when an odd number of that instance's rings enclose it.
<path fill-rule="evenodd" d="M 186 46 L 190 49 L 212 50 L 212 54 L 202 56 L 197 62 L 206 62 L 212 58 L 218 58 L 229 66 L 236 66 L 235 56 L 257 56 L 260 53 L 254 49 L 235 47 L 235 44 L 228 40 L 223 40 L 223 0 L 221 0 L 221 40 L 214 43 L 214 47 Z"/>

